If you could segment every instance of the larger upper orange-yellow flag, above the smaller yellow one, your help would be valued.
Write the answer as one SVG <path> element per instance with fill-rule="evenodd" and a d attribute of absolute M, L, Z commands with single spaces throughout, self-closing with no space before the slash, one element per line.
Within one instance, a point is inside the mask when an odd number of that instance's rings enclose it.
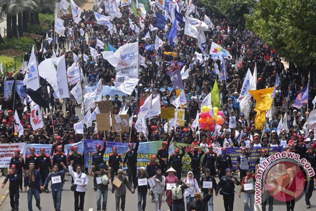
<path fill-rule="evenodd" d="M 271 95 L 274 87 L 266 88 L 262 90 L 249 90 L 249 93 L 256 100 L 256 110 L 257 111 L 266 111 L 271 108 L 273 98 Z"/>

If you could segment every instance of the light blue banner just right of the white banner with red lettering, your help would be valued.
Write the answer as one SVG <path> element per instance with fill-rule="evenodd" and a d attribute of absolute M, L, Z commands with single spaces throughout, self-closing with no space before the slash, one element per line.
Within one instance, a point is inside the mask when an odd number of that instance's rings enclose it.
<path fill-rule="evenodd" d="M 83 141 L 80 141 L 80 142 L 75 143 L 75 144 L 65 144 L 65 146 L 64 146 L 65 154 L 69 155 L 69 153 L 71 152 L 71 147 L 74 145 L 77 146 L 78 152 L 80 152 L 83 155 Z M 52 149 L 52 144 L 27 144 L 26 148 L 25 148 L 25 155 L 26 156 L 31 154 L 30 147 L 34 147 L 36 155 L 40 155 L 40 148 L 44 148 L 45 154 L 50 155 L 51 149 Z"/>

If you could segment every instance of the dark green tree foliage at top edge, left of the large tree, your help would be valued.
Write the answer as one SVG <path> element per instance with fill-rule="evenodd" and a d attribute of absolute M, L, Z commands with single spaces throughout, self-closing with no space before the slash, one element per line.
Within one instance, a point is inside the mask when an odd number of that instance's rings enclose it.
<path fill-rule="evenodd" d="M 254 7 L 254 0 L 199 0 L 210 9 L 217 17 L 226 17 L 228 22 L 235 27 L 244 27 L 246 19 L 244 14 Z"/>

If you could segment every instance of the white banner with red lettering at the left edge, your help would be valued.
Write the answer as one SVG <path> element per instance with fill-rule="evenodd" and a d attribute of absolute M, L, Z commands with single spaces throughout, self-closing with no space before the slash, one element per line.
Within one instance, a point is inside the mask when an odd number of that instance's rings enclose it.
<path fill-rule="evenodd" d="M 14 150 L 19 149 L 25 160 L 26 143 L 0 144 L 0 168 L 8 168 L 10 160 L 14 157 Z"/>

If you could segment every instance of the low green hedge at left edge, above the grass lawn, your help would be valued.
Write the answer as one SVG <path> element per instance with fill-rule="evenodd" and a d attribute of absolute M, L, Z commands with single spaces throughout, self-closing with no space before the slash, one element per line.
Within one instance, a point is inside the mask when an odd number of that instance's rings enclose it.
<path fill-rule="evenodd" d="M 3 43 L 0 43 L 0 50 L 5 49 L 17 49 L 17 50 L 29 50 L 32 48 L 34 40 L 28 37 L 20 37 L 19 39 L 3 39 Z"/>

